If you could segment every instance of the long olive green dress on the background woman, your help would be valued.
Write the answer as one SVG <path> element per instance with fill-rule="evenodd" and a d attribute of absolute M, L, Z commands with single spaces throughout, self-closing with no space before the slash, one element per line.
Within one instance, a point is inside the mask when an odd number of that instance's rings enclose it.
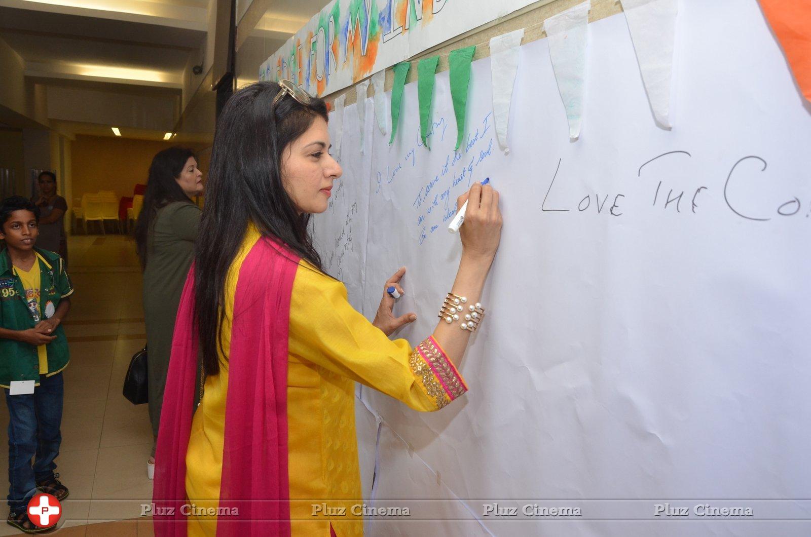
<path fill-rule="evenodd" d="M 144 319 L 147 328 L 149 419 L 156 441 L 172 350 L 174 318 L 194 258 L 201 215 L 200 208 L 194 204 L 183 201 L 168 204 L 158 209 L 147 237 Z M 152 456 L 154 454 L 155 445 L 152 445 Z"/>

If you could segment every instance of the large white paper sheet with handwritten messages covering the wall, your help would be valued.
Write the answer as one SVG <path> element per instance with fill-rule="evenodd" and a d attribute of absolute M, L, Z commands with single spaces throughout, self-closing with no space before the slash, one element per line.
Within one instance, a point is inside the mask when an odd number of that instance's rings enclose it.
<path fill-rule="evenodd" d="M 418 318 L 393 337 L 413 345 L 436 328 L 461 256 L 445 231 L 457 196 L 490 177 L 504 213 L 480 300 L 487 318 L 457 363 L 470 391 L 418 413 L 363 389 L 411 448 L 381 446 L 380 499 L 426 496 L 422 459 L 495 535 L 811 535 L 811 510 L 790 500 L 811 497 L 811 116 L 757 2 L 680 2 L 690 24 L 679 27 L 673 131 L 650 121 L 624 15 L 590 24 L 589 135 L 577 144 L 560 135 L 568 122 L 547 39 L 519 51 L 508 157 L 497 151 L 488 58 L 471 67 L 459 151 L 452 101 L 439 98 L 447 71 L 436 75 L 430 152 L 418 114 L 404 114 L 394 144 L 370 136 L 361 156 L 347 110 L 352 244 L 367 233 L 367 254 L 336 242 L 350 200 L 315 216 L 319 251 L 333 271 L 341 262 L 350 299 L 366 290 L 370 319 L 386 278 L 407 265 L 395 315 Z M 405 86 L 408 110 L 416 86 Z M 565 520 L 484 515 L 484 504 L 519 498 L 519 508 L 590 500 Z M 689 516 L 656 516 L 668 502 Z M 705 516 L 704 505 L 754 514 Z M 419 509 L 378 519 L 380 535 L 415 535 L 410 524 L 427 520 Z M 444 535 L 465 513 L 448 506 L 422 531 Z"/>

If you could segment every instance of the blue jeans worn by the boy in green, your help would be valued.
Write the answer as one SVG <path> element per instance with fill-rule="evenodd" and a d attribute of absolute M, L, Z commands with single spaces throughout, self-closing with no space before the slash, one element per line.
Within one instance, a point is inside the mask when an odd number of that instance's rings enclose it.
<path fill-rule="evenodd" d="M 12 511 L 25 509 L 36 494 L 36 481 L 54 476 L 54 459 L 62 444 L 62 373 L 40 375 L 34 393 L 9 395 L 8 406 L 8 505 Z M 34 458 L 31 466 L 31 459 Z"/>

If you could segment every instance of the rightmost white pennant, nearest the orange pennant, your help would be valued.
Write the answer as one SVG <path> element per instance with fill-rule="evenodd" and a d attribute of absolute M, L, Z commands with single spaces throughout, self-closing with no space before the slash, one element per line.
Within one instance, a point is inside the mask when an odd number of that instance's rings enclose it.
<path fill-rule="evenodd" d="M 670 81 L 677 0 L 621 0 L 642 83 L 659 127 L 671 128 Z"/>

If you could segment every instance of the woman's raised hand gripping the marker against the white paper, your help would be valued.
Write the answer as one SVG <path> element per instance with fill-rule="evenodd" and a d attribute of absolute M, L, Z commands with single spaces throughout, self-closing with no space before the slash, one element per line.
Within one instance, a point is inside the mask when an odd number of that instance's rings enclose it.
<path fill-rule="evenodd" d="M 457 207 L 468 201 L 465 221 L 459 228 L 462 255 L 492 261 L 501 240 L 499 193 L 489 184 L 475 183 L 457 199 Z"/>

